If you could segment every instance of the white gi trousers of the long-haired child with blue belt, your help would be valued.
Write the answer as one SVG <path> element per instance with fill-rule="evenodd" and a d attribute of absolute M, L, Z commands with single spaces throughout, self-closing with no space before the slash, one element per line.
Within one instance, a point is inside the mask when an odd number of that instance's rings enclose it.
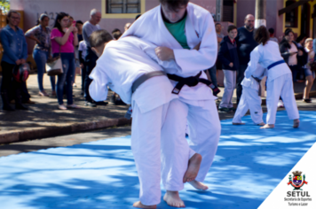
<path fill-rule="evenodd" d="M 275 69 L 278 70 L 278 69 Z M 283 74 L 266 83 L 267 124 L 274 124 L 279 98 L 282 97 L 289 120 L 299 119 L 296 98 L 294 97 L 292 74 Z"/>

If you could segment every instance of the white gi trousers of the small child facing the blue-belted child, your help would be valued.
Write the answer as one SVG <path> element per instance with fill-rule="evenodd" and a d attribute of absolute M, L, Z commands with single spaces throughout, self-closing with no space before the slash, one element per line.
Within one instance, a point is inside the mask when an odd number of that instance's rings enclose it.
<path fill-rule="evenodd" d="M 241 118 L 250 110 L 251 119 L 255 124 L 264 122 L 261 108 L 261 97 L 257 89 L 242 86 L 241 100 L 238 104 L 233 123 L 241 123 Z"/>

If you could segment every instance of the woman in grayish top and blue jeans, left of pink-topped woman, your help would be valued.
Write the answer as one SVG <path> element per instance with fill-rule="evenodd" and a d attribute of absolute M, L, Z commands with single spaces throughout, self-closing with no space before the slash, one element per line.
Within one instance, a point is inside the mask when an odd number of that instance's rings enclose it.
<path fill-rule="evenodd" d="M 33 50 L 33 58 L 37 66 L 38 94 L 43 97 L 48 97 L 49 95 L 43 89 L 43 74 L 45 73 L 47 58 L 51 56 L 51 29 L 48 27 L 50 18 L 47 14 L 43 13 L 38 20 L 39 24 L 29 29 L 25 36 L 36 41 L 36 46 Z M 55 80 L 53 77 L 51 77 L 51 95 L 56 96 Z"/>

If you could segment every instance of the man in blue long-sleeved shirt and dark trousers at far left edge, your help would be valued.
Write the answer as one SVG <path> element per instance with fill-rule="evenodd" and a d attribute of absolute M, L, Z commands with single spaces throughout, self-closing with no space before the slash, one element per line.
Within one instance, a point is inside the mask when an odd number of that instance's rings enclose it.
<path fill-rule="evenodd" d="M 28 110 L 28 108 L 21 102 L 21 83 L 12 78 L 12 70 L 14 66 L 25 64 L 28 58 L 28 45 L 23 30 L 18 27 L 20 24 L 20 13 L 16 11 L 9 11 L 6 23 L 7 25 L 0 33 L 1 43 L 4 48 L 4 54 L 1 60 L 1 97 L 4 104 L 3 110 L 14 111 L 10 105 L 9 92 L 11 89 L 14 93 L 15 109 Z"/>

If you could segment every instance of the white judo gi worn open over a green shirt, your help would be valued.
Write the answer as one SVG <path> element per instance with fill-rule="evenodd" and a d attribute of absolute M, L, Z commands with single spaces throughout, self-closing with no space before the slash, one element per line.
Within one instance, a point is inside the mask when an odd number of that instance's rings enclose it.
<path fill-rule="evenodd" d="M 217 59 L 217 35 L 214 20 L 211 14 L 198 5 L 187 5 L 186 40 L 190 49 L 201 43 L 200 50 L 183 49 L 180 43 L 170 34 L 162 19 L 161 5 L 144 13 L 122 35 L 136 35 L 141 39 L 154 43 L 157 46 L 165 46 L 173 50 L 175 60 L 179 68 L 165 69 L 167 74 L 176 74 L 181 77 L 189 77 L 214 66 Z M 202 72 L 200 78 L 207 79 Z M 176 86 L 177 81 L 171 81 Z M 177 128 L 170 128 L 168 135 L 162 135 L 170 139 L 168 146 L 176 146 L 182 142 L 186 135 L 186 121 L 190 129 L 190 146 L 202 156 L 201 167 L 196 180 L 204 181 L 209 171 L 220 135 L 220 122 L 217 106 L 211 89 L 205 84 L 199 83 L 194 87 L 184 86 L 178 94 L 181 105 L 178 105 Z M 165 123 L 165 126 L 166 123 Z M 171 127 L 171 126 L 170 126 Z M 178 141 L 172 141 L 172 139 Z M 163 148 L 162 148 L 163 149 Z M 189 153 L 191 158 L 193 151 Z M 162 183 L 166 190 L 182 190 L 182 179 L 186 173 L 186 155 L 184 151 L 165 152 L 162 155 Z M 179 164 L 178 162 L 183 163 Z M 186 165 L 185 165 L 186 164 Z"/>

